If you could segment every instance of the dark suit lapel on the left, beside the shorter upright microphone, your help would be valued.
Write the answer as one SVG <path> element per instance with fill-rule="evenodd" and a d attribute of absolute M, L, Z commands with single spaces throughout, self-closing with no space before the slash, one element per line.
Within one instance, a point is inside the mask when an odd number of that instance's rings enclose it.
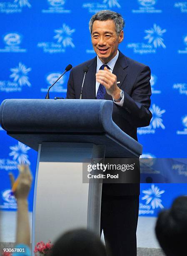
<path fill-rule="evenodd" d="M 83 99 L 96 99 L 95 97 L 95 84 L 96 84 L 96 68 L 97 68 L 97 57 L 93 59 L 93 61 L 87 65 L 88 66 L 88 72 L 85 76 L 85 82 L 82 94 L 84 92 Z"/>

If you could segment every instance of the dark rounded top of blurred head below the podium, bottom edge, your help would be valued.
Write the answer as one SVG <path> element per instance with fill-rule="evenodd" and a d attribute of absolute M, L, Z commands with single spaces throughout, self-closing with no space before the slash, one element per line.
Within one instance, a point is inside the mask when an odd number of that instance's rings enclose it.
<path fill-rule="evenodd" d="M 105 246 L 91 231 L 71 230 L 64 233 L 52 247 L 50 256 L 107 256 Z"/>

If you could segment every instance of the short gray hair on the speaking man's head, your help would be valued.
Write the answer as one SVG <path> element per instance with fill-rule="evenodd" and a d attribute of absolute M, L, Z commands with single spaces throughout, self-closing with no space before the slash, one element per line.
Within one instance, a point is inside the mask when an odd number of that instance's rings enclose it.
<path fill-rule="evenodd" d="M 117 36 L 120 35 L 120 32 L 125 26 L 125 21 L 120 13 L 115 13 L 110 10 L 102 10 L 98 13 L 95 13 L 89 22 L 89 30 L 92 34 L 92 26 L 95 20 L 113 20 L 116 27 L 116 34 Z"/>

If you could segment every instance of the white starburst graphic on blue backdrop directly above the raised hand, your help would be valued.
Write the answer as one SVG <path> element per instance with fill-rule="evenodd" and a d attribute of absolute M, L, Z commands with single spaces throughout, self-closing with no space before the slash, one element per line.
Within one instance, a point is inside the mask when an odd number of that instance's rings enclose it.
<path fill-rule="evenodd" d="M 27 156 L 27 151 L 30 147 L 25 146 L 23 143 L 18 141 L 18 144 L 15 146 L 10 146 L 12 152 L 9 156 L 13 156 L 13 160 L 17 160 L 18 164 L 30 164 L 30 161 Z"/>

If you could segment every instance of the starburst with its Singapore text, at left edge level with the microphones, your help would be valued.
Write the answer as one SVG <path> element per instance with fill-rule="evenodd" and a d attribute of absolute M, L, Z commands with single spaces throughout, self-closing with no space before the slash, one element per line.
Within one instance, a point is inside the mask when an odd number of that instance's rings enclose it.
<path fill-rule="evenodd" d="M 0 92 L 22 92 L 24 86 L 31 87 L 28 73 L 31 68 L 19 62 L 16 67 L 10 68 L 11 80 L 0 80 Z"/>

